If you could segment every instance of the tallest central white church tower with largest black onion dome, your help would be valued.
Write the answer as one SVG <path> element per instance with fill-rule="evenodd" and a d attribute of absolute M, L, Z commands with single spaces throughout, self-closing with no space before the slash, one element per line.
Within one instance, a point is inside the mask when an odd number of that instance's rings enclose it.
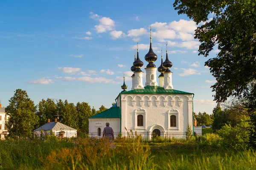
<path fill-rule="evenodd" d="M 157 68 L 154 62 L 157 60 L 157 54 L 154 54 L 152 49 L 151 27 L 150 27 L 150 46 L 148 54 L 145 55 L 145 60 L 148 62 L 146 71 L 145 85 L 157 86 Z"/>

